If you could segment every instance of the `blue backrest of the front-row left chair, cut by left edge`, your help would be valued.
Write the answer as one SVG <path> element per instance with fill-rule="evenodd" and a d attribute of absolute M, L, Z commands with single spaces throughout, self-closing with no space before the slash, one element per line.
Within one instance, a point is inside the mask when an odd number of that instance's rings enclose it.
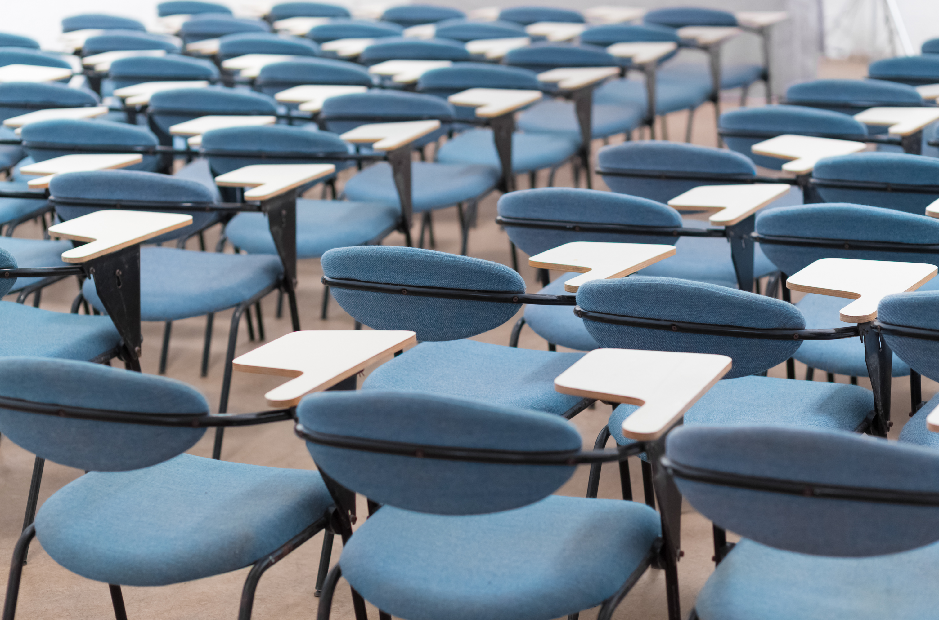
<path fill-rule="evenodd" d="M 208 415 L 208 402 L 194 388 L 152 374 L 40 357 L 0 358 L 0 374 L 0 397 L 5 399 L 150 415 Z M 0 432 L 14 444 L 86 471 L 155 465 L 192 447 L 205 431 L 0 408 Z"/>

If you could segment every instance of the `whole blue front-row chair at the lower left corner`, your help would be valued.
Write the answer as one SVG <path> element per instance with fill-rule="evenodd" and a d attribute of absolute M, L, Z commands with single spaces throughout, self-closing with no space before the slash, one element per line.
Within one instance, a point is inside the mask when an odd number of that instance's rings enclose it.
<path fill-rule="evenodd" d="M 317 472 L 183 454 L 208 427 L 229 423 L 210 415 L 190 386 L 36 357 L 0 359 L 0 369 L 10 380 L 0 391 L 0 431 L 38 457 L 88 472 L 47 499 L 23 530 L 8 581 L 10 620 L 33 537 L 58 565 L 108 583 L 117 617 L 127 617 L 121 585 L 252 567 L 239 614 L 248 620 L 264 571 L 329 521 L 332 499 Z M 235 417 L 289 419 L 285 412 Z"/>

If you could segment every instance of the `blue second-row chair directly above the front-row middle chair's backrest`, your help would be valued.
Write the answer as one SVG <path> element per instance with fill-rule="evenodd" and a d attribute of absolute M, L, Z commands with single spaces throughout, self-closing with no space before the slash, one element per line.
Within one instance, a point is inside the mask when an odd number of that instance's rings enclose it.
<path fill-rule="evenodd" d="M 513 269 L 395 246 L 329 250 L 320 263 L 332 296 L 362 325 L 413 330 L 422 341 L 373 371 L 362 389 L 431 392 L 567 417 L 591 402 L 554 389 L 554 378 L 583 354 L 466 340 L 502 325 L 526 303 L 525 281 Z M 361 290 L 370 283 L 393 288 Z M 413 292 L 402 295 L 402 287 Z M 423 296 L 425 287 L 438 295 Z M 490 301 L 458 296 L 486 291 L 502 296 Z M 457 296 L 439 296 L 448 294 Z"/>

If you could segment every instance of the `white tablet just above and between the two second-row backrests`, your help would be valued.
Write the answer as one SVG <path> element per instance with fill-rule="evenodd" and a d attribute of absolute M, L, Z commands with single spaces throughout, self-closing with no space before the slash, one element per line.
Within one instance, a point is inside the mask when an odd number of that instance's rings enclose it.
<path fill-rule="evenodd" d="M 668 244 L 573 241 L 531 256 L 529 265 L 583 274 L 564 282 L 564 291 L 577 293 L 591 280 L 623 278 L 674 255 L 675 247 Z"/>

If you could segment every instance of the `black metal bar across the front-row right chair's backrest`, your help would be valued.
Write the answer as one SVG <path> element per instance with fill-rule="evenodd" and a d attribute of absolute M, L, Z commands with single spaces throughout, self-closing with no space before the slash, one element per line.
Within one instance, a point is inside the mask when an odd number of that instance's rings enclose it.
<path fill-rule="evenodd" d="M 908 506 L 939 506 L 939 493 L 925 491 L 900 491 L 897 489 L 868 489 L 839 484 L 780 480 L 762 476 L 744 476 L 728 472 L 717 472 L 691 465 L 684 465 L 662 457 L 662 466 L 671 476 L 716 484 L 735 489 L 771 491 L 787 495 L 802 495 L 822 499 L 839 499 L 878 504 L 904 504 Z"/>

